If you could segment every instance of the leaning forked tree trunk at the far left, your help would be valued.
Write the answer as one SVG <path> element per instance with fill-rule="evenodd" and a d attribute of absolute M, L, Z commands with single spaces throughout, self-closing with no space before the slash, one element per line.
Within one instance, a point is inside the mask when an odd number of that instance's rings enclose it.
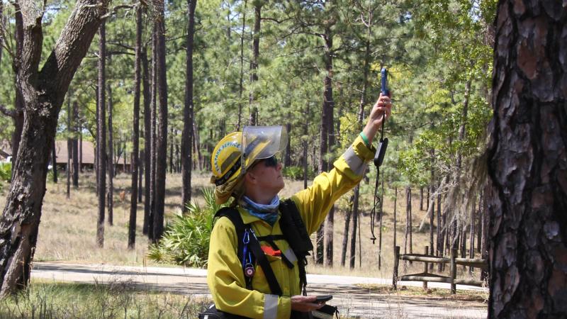
<path fill-rule="evenodd" d="M 102 5 L 94 6 L 97 3 Z M 104 11 L 106 1 L 79 0 L 40 69 L 43 10 L 33 2 L 21 7 L 24 41 L 16 86 L 23 95 L 25 116 L 19 159 L 0 218 L 0 296 L 23 288 L 30 279 L 57 117 Z"/>

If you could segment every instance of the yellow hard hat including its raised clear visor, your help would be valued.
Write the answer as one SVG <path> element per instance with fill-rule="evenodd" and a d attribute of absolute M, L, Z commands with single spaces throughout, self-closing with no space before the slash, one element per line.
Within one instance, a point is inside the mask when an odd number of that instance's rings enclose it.
<path fill-rule="evenodd" d="M 245 126 L 220 140 L 210 157 L 216 186 L 242 176 L 257 160 L 274 156 L 286 147 L 287 132 L 282 126 Z M 245 150 L 242 152 L 242 150 Z"/>

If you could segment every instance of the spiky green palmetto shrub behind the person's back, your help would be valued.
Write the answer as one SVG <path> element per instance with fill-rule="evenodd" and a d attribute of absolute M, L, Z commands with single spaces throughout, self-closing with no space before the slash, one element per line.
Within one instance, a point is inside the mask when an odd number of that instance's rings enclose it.
<path fill-rule="evenodd" d="M 215 203 L 212 189 L 203 189 L 205 206 L 188 203 L 185 213 L 176 213 L 157 245 L 150 246 L 148 257 L 156 262 L 206 267 L 213 216 L 222 206 Z"/>

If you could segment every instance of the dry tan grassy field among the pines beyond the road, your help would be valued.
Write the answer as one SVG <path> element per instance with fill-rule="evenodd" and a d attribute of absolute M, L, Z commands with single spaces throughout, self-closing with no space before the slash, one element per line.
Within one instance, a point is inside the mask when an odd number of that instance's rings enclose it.
<path fill-rule="evenodd" d="M 193 200 L 202 201 L 200 189 L 210 187 L 208 174 L 193 175 Z M 43 202 L 43 212 L 40 223 L 38 247 L 35 251 L 35 261 L 65 261 L 75 263 L 108 263 L 108 264 L 152 264 L 147 257 L 147 238 L 142 235 L 143 206 L 138 203 L 137 213 L 137 237 L 135 250 L 127 249 L 128 241 L 128 218 L 130 214 L 130 175 L 118 174 L 114 180 L 114 214 L 113 225 L 105 223 L 104 247 L 96 246 L 96 218 L 97 198 L 94 174 L 85 173 L 79 177 L 78 189 L 71 189 L 70 198 L 66 198 L 66 184 L 63 175 L 60 182 L 54 184 L 47 182 L 47 191 Z M 181 175 L 168 174 L 166 191 L 166 223 L 169 216 L 180 209 L 181 202 Z M 0 206 L 4 207 L 8 186 L 0 190 Z M 303 181 L 286 180 L 286 189 L 281 192 L 281 197 L 287 197 L 303 188 Z M 125 192 L 124 201 L 120 200 L 120 192 Z M 344 197 L 349 196 L 349 194 Z M 366 195 L 364 195 L 366 196 Z M 363 197 L 364 197 L 363 196 Z M 366 196 L 365 211 L 368 212 L 368 203 L 371 198 Z M 405 194 L 398 190 L 397 207 L 397 242 L 403 246 L 403 233 L 405 228 Z M 417 230 L 420 221 L 425 218 L 426 212 L 419 210 L 419 194 L 414 194 L 412 202 L 413 211 L 413 252 L 422 253 L 425 245 L 429 242 L 429 223 L 424 229 Z M 344 206 L 340 204 L 339 206 Z M 350 276 L 372 276 L 391 278 L 393 265 L 393 200 L 386 198 L 384 202 L 383 219 L 383 243 L 381 254 L 381 269 L 378 269 L 378 241 L 373 245 L 369 238 L 370 216 L 364 214 L 361 217 L 361 263 L 359 261 L 359 243 L 357 243 L 357 261 L 354 269 L 341 267 L 340 256 L 342 250 L 342 238 L 344 230 L 344 212 L 337 209 L 335 212 L 334 226 L 334 267 L 315 266 L 313 260 L 308 265 L 308 272 L 317 274 L 342 274 Z M 428 218 L 427 218 L 428 220 Z M 375 229 L 378 235 L 378 227 Z M 402 247 L 403 252 L 403 247 Z M 349 254 L 347 253 L 347 258 Z M 421 272 L 422 264 L 400 264 L 400 274 L 410 272 Z M 462 269 L 459 267 L 459 272 Z M 468 272 L 461 273 L 468 276 Z M 475 274 L 478 277 L 478 272 Z"/>

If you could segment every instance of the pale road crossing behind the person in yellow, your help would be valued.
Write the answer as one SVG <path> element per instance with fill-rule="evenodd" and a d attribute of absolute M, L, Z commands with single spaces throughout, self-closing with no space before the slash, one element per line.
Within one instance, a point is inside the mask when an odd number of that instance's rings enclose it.
<path fill-rule="evenodd" d="M 32 277 L 99 284 L 125 282 L 137 289 L 210 297 L 203 269 L 36 262 Z M 338 306 L 342 315 L 357 318 L 486 318 L 487 315 L 483 303 L 384 295 L 357 285 L 391 284 L 391 279 L 309 274 L 308 283 L 310 294 L 332 294 L 330 304 Z M 403 285 L 421 286 L 422 283 L 406 281 Z M 430 286 L 447 288 L 444 284 L 430 283 Z"/>

